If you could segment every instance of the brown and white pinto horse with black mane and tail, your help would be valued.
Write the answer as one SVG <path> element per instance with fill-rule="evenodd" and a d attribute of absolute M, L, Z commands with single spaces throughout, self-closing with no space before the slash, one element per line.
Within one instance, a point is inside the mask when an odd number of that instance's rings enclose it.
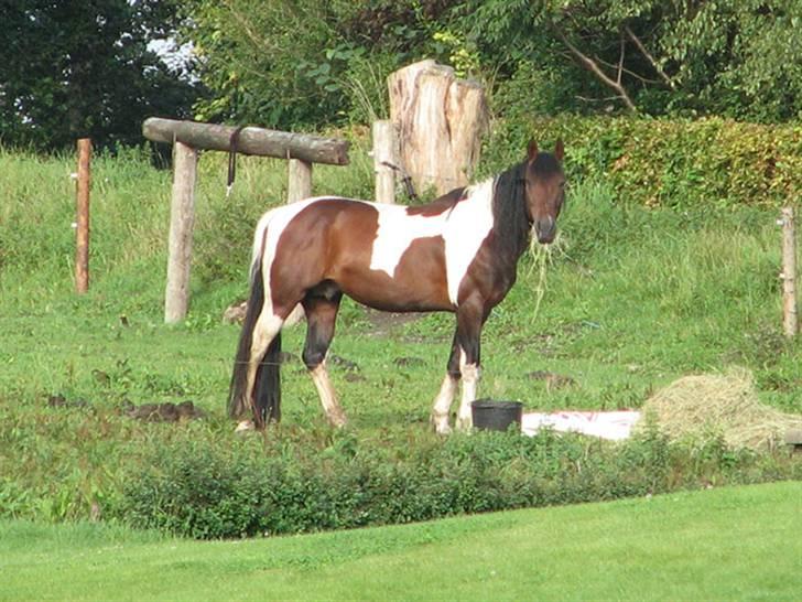
<path fill-rule="evenodd" d="M 382 311 L 456 314 L 431 422 L 436 432 L 451 432 L 462 379 L 455 426 L 469 429 L 481 327 L 512 288 L 530 235 L 543 245 L 554 240 L 565 197 L 562 161 L 562 140 L 553 153 L 530 141 L 521 163 L 427 205 L 317 196 L 265 213 L 253 236 L 250 297 L 228 397 L 237 430 L 262 430 L 281 419 L 281 331 L 299 304 L 306 315 L 303 362 L 328 422 L 346 423 L 326 370 L 344 294 Z"/>

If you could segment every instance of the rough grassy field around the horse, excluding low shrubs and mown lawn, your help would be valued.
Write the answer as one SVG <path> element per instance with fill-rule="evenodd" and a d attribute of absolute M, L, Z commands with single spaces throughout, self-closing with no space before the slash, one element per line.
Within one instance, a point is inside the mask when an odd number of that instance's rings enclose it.
<path fill-rule="evenodd" d="M 356 142 L 351 166 L 316 169 L 316 193 L 370 195 L 370 161 Z M 124 475 L 164 441 L 229 444 L 225 399 L 238 327 L 220 315 L 247 293 L 253 224 L 281 202 L 286 180 L 280 161 L 240 158 L 227 200 L 224 158 L 204 155 L 192 308 L 184 323 L 165 326 L 170 174 L 134 151 L 96 158 L 91 283 L 77 297 L 73 170 L 73 158 L 0 151 L 4 517 L 102 515 Z M 802 412 L 802 343 L 780 329 L 776 214 L 648 209 L 593 182 L 573 183 L 545 280 L 524 258 L 519 283 L 488 321 L 483 394 L 530 410 L 639 408 L 682 375 L 739 366 L 754 373 L 761 401 Z M 452 332 L 451 315 L 388 322 L 344 304 L 332 372 L 360 445 L 431 443 L 427 417 Z M 303 329 L 284 341 L 300 355 Z M 571 384 L 549 388 L 533 378 L 538 370 Z M 300 362 L 285 366 L 283 381 L 279 437 L 325 452 L 333 436 Z M 120 411 L 187 399 L 204 420 L 147 423 Z"/>

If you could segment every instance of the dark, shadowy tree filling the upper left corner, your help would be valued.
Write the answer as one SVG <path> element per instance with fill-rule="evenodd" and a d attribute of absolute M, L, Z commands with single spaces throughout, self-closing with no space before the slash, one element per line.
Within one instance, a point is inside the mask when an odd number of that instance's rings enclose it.
<path fill-rule="evenodd" d="M 149 115 L 188 115 L 197 90 L 148 50 L 180 17 L 172 0 L 0 0 L 0 141 L 139 143 Z"/>

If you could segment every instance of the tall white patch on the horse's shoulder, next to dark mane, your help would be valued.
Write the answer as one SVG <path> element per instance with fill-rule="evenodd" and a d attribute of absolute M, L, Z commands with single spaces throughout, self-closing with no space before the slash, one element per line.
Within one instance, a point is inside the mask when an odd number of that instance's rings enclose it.
<path fill-rule="evenodd" d="M 445 238 L 445 265 L 448 279 L 448 299 L 457 305 L 459 284 L 470 262 L 492 229 L 492 195 L 496 180 L 490 179 L 470 186 L 467 198 L 457 203 L 448 215 Z"/>

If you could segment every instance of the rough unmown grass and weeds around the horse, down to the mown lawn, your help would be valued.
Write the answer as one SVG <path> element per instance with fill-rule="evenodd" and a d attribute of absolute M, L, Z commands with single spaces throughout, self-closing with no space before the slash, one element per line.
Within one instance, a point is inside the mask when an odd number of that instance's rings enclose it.
<path fill-rule="evenodd" d="M 351 166 L 316 170 L 319 192 L 369 194 L 370 162 L 355 142 Z M 226 200 L 224 159 L 204 155 L 192 310 L 177 326 L 162 324 L 169 174 L 137 152 L 97 158 L 91 286 L 76 297 L 71 171 L 72 159 L 0 153 L 3 516 L 117 516 L 217 537 L 799 477 L 784 450 L 729 450 L 715 437 L 669 444 L 651 433 L 621 447 L 550 436 L 443 441 L 427 417 L 453 318 L 388 322 L 351 302 L 332 350 L 350 428 L 325 426 L 302 364 L 290 362 L 282 427 L 264 440 L 236 439 L 224 401 L 238 327 L 220 314 L 247 292 L 252 225 L 281 202 L 283 164 L 242 158 Z M 682 375 L 737 365 L 754 372 L 765 404 L 801 412 L 802 350 L 780 332 L 774 218 L 762 206 L 646 208 L 575 181 L 545 281 L 524 259 L 487 324 L 484 394 L 530 410 L 638 408 Z M 302 327 L 289 331 L 285 350 L 299 354 L 302 341 Z M 568 385 L 550 388 L 532 377 L 538 370 Z M 204 419 L 150 423 L 127 410 L 187 399 Z M 278 501 L 284 514 L 230 495 L 247 485 L 268 507 L 272 479 L 295 496 Z M 429 493 L 404 490 L 405 481 Z"/>

